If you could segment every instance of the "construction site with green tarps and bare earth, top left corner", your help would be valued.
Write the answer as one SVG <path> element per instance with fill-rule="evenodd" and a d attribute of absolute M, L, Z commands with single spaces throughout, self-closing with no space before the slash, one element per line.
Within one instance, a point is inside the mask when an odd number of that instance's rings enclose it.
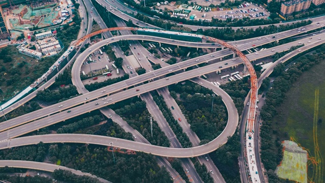
<path fill-rule="evenodd" d="M 63 21 L 61 10 L 67 2 L 62 1 L 60 3 L 59 0 L 27 0 L 17 5 L 17 2 L 8 0 L 8 3 L 3 4 L 3 15 L 9 29 L 46 27 Z"/>

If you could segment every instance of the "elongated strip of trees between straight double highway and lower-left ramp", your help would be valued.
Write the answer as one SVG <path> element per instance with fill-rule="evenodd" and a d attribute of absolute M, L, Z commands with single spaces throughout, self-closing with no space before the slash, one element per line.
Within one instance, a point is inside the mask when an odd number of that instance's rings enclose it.
<path fill-rule="evenodd" d="M 103 120 L 104 119 L 100 115 L 89 116 L 79 121 L 76 121 L 75 123 L 62 126 L 61 128 L 57 129 L 56 133 L 73 133 L 81 129 L 85 129 L 87 127 L 99 124 Z"/>

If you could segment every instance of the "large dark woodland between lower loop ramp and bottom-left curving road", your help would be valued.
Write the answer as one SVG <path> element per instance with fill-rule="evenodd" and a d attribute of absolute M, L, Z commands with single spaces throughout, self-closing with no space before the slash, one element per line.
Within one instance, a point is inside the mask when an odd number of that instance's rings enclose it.
<path fill-rule="evenodd" d="M 108 147 L 84 144 L 43 144 L 15 147 L 0 151 L 0 159 L 43 162 L 46 156 L 56 157 L 61 166 L 81 170 L 112 182 L 171 183 L 172 178 L 165 167 L 160 168 L 153 155 L 137 152 L 136 155 L 113 154 Z M 53 159 L 54 160 L 54 159 Z M 70 172 L 56 171 L 55 179 L 65 182 L 96 182 L 90 177 L 76 177 Z M 15 181 L 12 181 L 15 182 Z M 29 181 L 39 182 L 39 181 Z M 47 182 L 44 180 L 44 182 Z"/>

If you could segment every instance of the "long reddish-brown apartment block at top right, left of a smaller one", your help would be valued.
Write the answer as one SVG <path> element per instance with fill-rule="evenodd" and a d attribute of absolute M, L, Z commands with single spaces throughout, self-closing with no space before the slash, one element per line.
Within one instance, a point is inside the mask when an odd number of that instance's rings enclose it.
<path fill-rule="evenodd" d="M 307 10 L 310 7 L 311 0 L 293 0 L 281 4 L 281 14 L 290 15 L 294 12 Z"/>

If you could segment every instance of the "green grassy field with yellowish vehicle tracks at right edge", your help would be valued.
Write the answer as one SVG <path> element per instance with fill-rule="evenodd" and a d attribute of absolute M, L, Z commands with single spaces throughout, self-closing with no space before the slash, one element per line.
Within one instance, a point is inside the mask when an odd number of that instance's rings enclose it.
<path fill-rule="evenodd" d="M 281 140 L 292 140 L 308 151 L 308 182 L 323 182 L 325 156 L 325 62 L 302 74 L 274 117 Z M 324 121 L 325 123 L 325 121 Z"/>

